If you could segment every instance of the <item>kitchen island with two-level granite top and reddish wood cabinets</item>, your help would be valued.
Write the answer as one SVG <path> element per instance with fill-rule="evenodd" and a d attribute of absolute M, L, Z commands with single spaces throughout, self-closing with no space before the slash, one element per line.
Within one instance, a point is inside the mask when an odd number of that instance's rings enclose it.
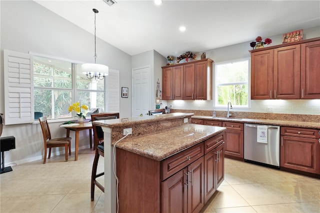
<path fill-rule="evenodd" d="M 192 115 L 192 113 L 170 113 L 124 119 L 125 122 L 121 122 L 122 119 L 93 122 L 101 126 L 104 131 L 105 212 L 116 212 L 112 148 L 123 136 L 124 128 L 132 128 L 132 135 L 116 144 L 119 212 L 166 212 L 163 206 L 167 207 L 168 205 L 164 204 L 170 202 L 170 199 L 173 199 L 172 201 L 181 199 L 180 204 L 185 208 L 190 205 L 190 208 L 201 209 L 204 200 L 208 200 L 213 192 L 210 190 L 203 195 L 204 188 L 208 189 L 212 185 L 212 181 L 208 180 L 210 186 L 204 187 L 204 155 L 210 154 L 214 158 L 216 156 L 215 161 L 218 162 L 220 152 L 215 149 L 218 145 L 223 147 L 225 128 L 191 124 Z M 221 179 L 223 152 L 220 159 Z M 184 186 L 189 185 L 185 190 L 197 189 L 198 191 L 194 191 L 193 194 L 202 192 L 202 196 L 198 199 L 199 205 L 187 202 L 184 199 L 187 198 L 186 193 L 179 198 L 168 197 L 173 192 L 168 192 L 169 188 L 166 187 L 180 174 L 182 182 L 177 183 L 180 184 L 182 191 Z"/>

